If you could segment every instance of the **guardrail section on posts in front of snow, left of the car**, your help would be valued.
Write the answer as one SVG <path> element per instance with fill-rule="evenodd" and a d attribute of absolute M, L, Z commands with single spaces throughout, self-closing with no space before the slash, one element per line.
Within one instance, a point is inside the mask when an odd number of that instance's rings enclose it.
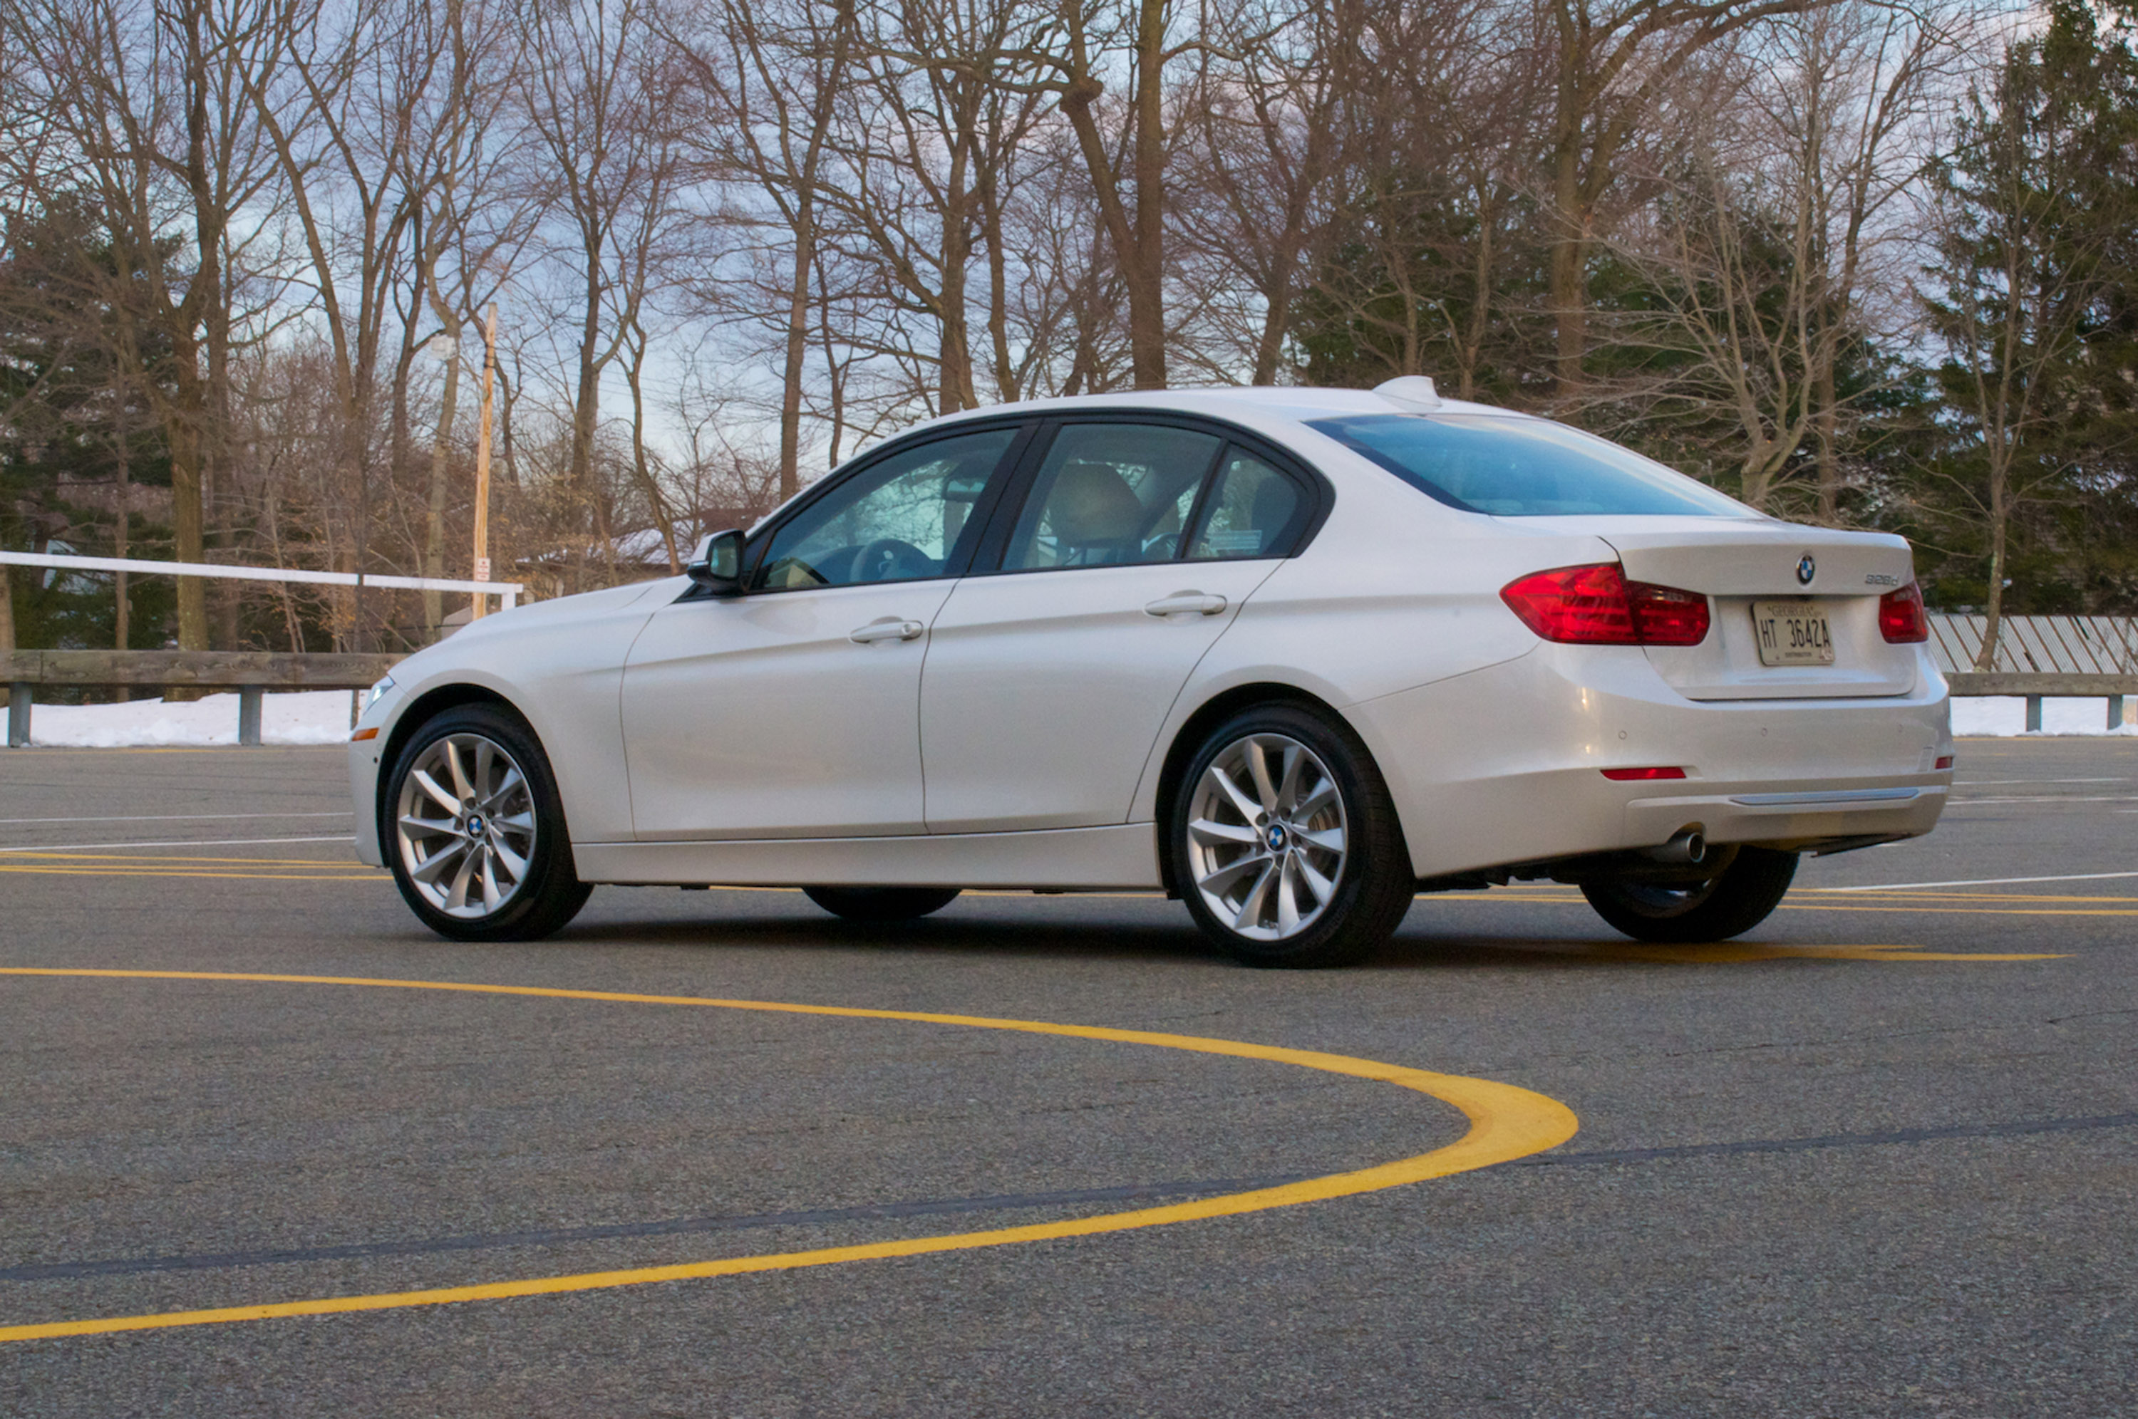
<path fill-rule="evenodd" d="M 402 656 L 293 654 L 259 650 L 9 650 L 0 684 L 9 688 L 9 748 L 30 744 L 36 686 L 133 686 L 237 690 L 237 742 L 261 742 L 267 690 L 361 690 Z"/>

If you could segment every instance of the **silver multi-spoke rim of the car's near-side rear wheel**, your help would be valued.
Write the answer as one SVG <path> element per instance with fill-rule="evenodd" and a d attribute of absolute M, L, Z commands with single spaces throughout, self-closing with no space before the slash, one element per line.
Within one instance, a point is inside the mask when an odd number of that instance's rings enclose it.
<path fill-rule="evenodd" d="M 1189 876 L 1204 906 L 1249 940 L 1311 927 L 1343 880 L 1343 795 L 1289 735 L 1234 739 L 1189 801 Z"/>

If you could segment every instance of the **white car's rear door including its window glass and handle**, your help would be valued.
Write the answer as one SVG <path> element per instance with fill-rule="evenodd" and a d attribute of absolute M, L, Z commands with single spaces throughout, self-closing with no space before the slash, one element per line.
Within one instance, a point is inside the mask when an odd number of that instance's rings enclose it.
<path fill-rule="evenodd" d="M 928 829 L 1125 823 L 1174 697 L 1319 498 L 1219 430 L 1054 430 L 1005 502 L 996 571 L 960 581 L 930 633 Z"/>

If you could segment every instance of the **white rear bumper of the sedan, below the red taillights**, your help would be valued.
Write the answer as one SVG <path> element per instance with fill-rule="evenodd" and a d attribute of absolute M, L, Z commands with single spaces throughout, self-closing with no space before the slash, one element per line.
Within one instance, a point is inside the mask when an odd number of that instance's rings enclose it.
<path fill-rule="evenodd" d="M 1347 710 L 1388 778 L 1417 876 L 1708 842 L 1911 838 L 1943 812 L 1943 680 L 1909 695 L 1689 701 L 1636 648 L 1541 645 Z M 1678 767 L 1616 782 L 1601 769 Z"/>

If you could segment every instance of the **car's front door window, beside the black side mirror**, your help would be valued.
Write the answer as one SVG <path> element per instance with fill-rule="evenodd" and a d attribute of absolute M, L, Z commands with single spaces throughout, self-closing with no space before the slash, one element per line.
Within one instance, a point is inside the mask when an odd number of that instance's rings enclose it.
<path fill-rule="evenodd" d="M 941 577 L 1016 430 L 904 449 L 795 513 L 750 579 L 753 592 Z"/>

